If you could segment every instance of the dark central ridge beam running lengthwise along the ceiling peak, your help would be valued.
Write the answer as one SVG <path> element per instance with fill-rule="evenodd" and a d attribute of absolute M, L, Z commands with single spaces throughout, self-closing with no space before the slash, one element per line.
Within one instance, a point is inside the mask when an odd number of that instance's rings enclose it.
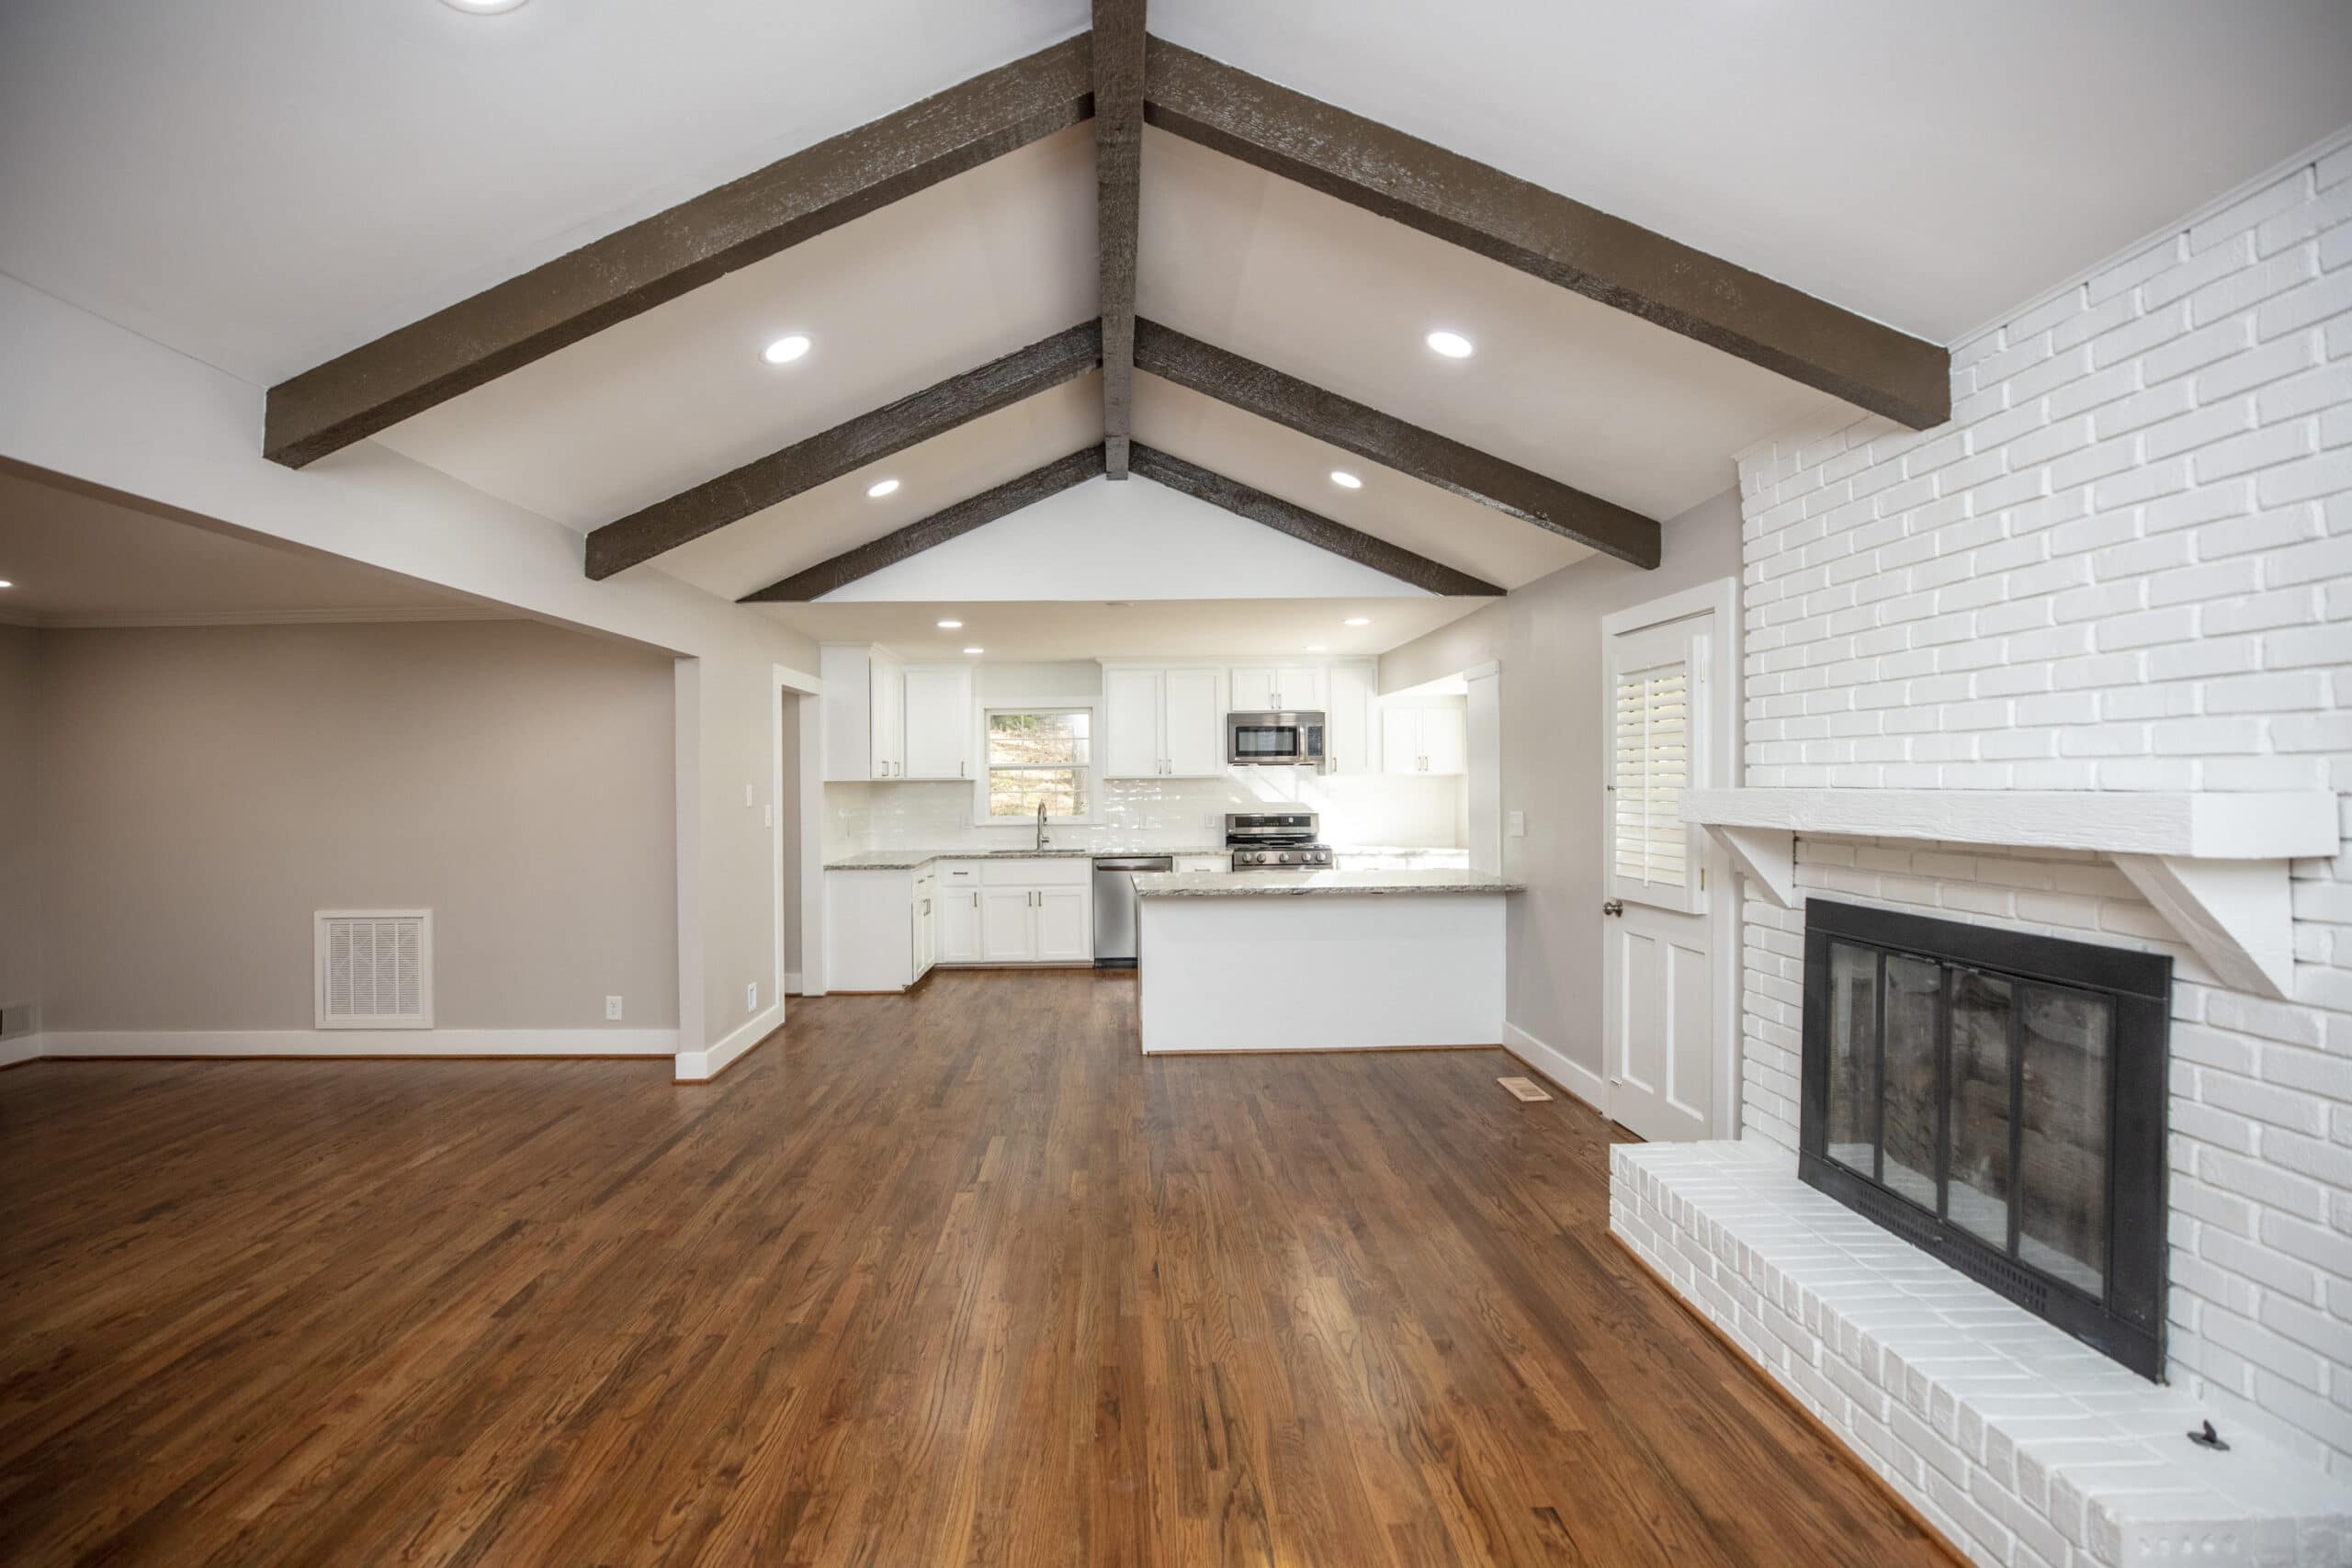
<path fill-rule="evenodd" d="M 1103 458 L 1127 477 L 1143 202 L 1143 0 L 1094 0 L 1094 223 L 1103 261 Z"/>

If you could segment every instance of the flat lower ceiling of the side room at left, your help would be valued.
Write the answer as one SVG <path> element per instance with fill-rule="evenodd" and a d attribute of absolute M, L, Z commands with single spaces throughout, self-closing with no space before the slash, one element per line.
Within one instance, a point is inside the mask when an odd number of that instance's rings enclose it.
<path fill-rule="evenodd" d="M 214 534 L 0 470 L 0 621 L 35 625 L 485 616 L 339 555 Z"/>

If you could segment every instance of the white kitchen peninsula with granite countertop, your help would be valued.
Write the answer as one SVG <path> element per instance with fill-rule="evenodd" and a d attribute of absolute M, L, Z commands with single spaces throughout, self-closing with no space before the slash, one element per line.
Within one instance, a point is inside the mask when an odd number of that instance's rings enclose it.
<path fill-rule="evenodd" d="M 1461 870 L 1136 877 L 1143 1051 L 1503 1041 L 1503 900 Z"/>

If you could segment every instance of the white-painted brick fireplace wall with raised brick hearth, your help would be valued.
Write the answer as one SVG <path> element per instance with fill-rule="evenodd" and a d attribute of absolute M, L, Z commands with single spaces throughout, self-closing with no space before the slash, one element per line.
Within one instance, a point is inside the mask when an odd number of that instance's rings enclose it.
<path fill-rule="evenodd" d="M 1806 891 L 2171 952 L 2161 1394 L 2176 1403 L 2157 1427 L 2197 1408 L 2225 1436 L 2291 1455 L 2281 1462 L 2352 1509 L 2352 856 L 2340 853 L 2352 790 L 2352 136 L 1959 343 L 1952 362 L 1947 425 L 1912 433 L 1865 416 L 1740 461 L 1743 785 L 2333 790 L 2338 842 L 2274 865 L 2291 910 L 2281 999 L 2223 983 L 2183 938 L 2180 910 L 2152 907 L 2145 879 L 2098 851 L 1799 832 L 1797 907 L 1752 884 L 1745 903 L 1738 1159 L 1785 1157 L 1792 1168 Z M 1750 1265 L 1778 1267 L 1748 1234 L 1771 1222 L 1752 1204 L 1729 1215 L 1693 1197 L 1738 1190 L 1705 1159 L 1625 1152 L 1618 1229 L 1733 1338 L 1769 1335 L 1769 1298 L 1740 1324 L 1729 1284 Z M 1837 1356 L 1832 1335 L 1771 1371 L 1976 1561 L 2117 1563 L 2159 1544 L 2187 1554 L 2187 1535 L 2034 1533 L 2063 1490 L 2046 1469 L 2034 1481 L 2044 1512 L 2004 1523 L 1999 1509 L 2023 1486 L 2018 1446 L 1957 1410 L 1938 1427 L 1931 1389 L 1907 1389 L 1898 1356 L 1870 1352 L 1870 1373 L 1832 1368 Z M 1907 1392 L 1926 1399 L 1917 1418 Z M 1893 1434 L 1884 1448 L 1877 1429 Z M 1966 1500 L 1973 1472 L 1945 1474 L 1955 1458 L 1940 1446 L 1969 1441 L 1978 1469 L 1987 1453 L 2006 1455 L 2009 1490 L 1962 1507 L 1955 1495 Z M 2086 1483 L 2065 1486 L 2096 1519 L 2098 1500 L 2077 1495 Z M 2310 1495 L 2293 1497 L 2277 1512 L 2310 1514 Z M 2194 1540 L 2194 1561 L 2352 1561 L 2352 1544 L 2326 1530 L 2249 1530 L 2227 1549 Z"/>

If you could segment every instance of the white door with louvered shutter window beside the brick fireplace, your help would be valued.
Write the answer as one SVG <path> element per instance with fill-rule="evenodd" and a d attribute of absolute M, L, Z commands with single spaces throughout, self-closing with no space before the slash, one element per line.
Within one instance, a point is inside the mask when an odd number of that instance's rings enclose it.
<path fill-rule="evenodd" d="M 1682 790 L 1708 778 L 1705 668 L 1715 616 L 1609 639 L 1602 905 L 1602 1072 L 1609 1117 L 1644 1138 L 1715 1121 L 1715 945 L 1705 856 Z"/>

